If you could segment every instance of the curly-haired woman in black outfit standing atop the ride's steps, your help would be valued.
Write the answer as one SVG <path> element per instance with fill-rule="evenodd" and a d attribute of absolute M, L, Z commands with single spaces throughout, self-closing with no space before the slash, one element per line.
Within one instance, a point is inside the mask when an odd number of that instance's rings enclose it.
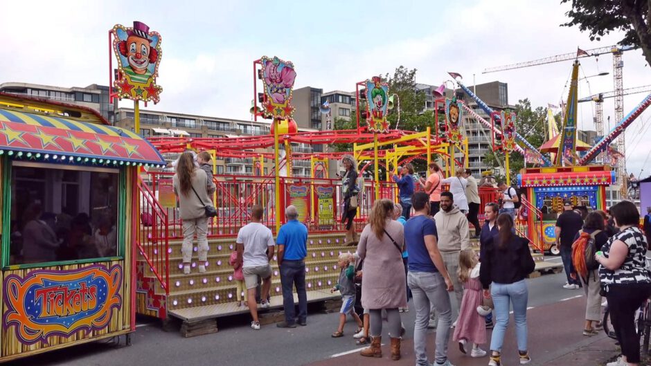
<path fill-rule="evenodd" d="M 359 207 L 359 190 L 357 187 L 357 171 L 355 167 L 355 158 L 350 155 L 344 155 L 341 158 L 341 164 L 344 165 L 346 173 L 341 180 L 341 190 L 344 194 L 344 211 L 341 213 L 341 223 L 346 224 L 346 242 L 344 245 L 350 246 L 357 242 L 357 232 L 353 220 L 357 215 L 357 207 Z"/>

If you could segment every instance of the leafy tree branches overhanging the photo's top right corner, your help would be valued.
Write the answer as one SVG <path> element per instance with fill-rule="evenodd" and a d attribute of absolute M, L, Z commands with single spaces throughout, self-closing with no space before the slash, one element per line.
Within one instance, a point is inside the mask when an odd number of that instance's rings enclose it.
<path fill-rule="evenodd" d="M 562 26 L 578 26 L 589 31 L 591 40 L 600 40 L 615 30 L 625 33 L 621 45 L 638 46 L 651 65 L 651 1 L 649 0 L 561 0 L 572 3 L 566 13 L 571 19 Z"/>

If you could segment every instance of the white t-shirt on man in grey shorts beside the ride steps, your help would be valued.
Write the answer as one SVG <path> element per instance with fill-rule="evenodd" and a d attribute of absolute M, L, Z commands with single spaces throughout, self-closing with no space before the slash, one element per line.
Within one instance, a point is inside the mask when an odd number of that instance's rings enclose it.
<path fill-rule="evenodd" d="M 238 232 L 238 244 L 244 244 L 242 268 L 259 267 L 269 264 L 267 246 L 274 246 L 274 235 L 262 223 L 247 223 Z"/>

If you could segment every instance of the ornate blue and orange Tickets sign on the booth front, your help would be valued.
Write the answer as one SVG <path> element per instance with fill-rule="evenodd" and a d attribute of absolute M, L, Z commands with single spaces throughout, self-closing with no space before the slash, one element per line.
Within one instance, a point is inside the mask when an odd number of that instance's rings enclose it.
<path fill-rule="evenodd" d="M 101 264 L 70 270 L 35 270 L 4 281 L 7 311 L 3 327 L 15 327 L 26 345 L 48 337 L 104 329 L 113 309 L 120 309 L 122 268 Z"/>

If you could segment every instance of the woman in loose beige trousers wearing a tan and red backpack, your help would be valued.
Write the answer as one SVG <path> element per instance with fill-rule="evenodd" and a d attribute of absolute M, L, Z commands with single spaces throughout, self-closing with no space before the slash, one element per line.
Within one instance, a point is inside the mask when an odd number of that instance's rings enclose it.
<path fill-rule="evenodd" d="M 583 223 L 583 228 L 576 233 L 574 237 L 574 242 L 581 237 L 582 233 L 589 235 L 586 237 L 586 240 L 589 240 L 590 237 L 594 237 L 594 247 L 595 252 L 601 250 L 606 241 L 608 241 L 608 235 L 604 230 L 604 220 L 602 216 L 602 211 L 592 211 L 586 217 Z M 585 253 L 583 254 L 585 257 Z M 599 273 L 597 268 L 587 268 L 587 273 L 579 273 L 579 279 L 583 285 L 583 291 L 587 298 L 585 304 L 585 325 L 583 327 L 584 336 L 594 336 L 599 332 L 595 327 L 599 327 L 599 320 L 601 319 L 601 295 L 599 291 L 601 289 L 599 284 Z M 594 327 L 593 327 L 594 326 Z"/>

